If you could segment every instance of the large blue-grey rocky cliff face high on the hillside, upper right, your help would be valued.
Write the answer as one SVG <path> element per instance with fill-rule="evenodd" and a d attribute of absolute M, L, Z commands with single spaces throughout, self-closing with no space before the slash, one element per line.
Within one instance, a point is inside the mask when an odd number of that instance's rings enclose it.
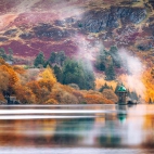
<path fill-rule="evenodd" d="M 88 33 L 100 33 L 124 24 L 139 24 L 146 13 L 144 8 L 112 7 L 104 11 L 89 11 L 81 23 Z"/>

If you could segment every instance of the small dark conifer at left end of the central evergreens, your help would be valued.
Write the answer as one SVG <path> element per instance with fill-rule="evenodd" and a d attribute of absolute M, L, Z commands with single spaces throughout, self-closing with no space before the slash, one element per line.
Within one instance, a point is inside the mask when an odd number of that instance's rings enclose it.
<path fill-rule="evenodd" d="M 44 66 L 44 64 L 46 64 L 46 61 L 44 61 L 43 52 L 39 52 L 39 54 L 35 59 L 34 65 L 38 67 L 39 65 Z"/>

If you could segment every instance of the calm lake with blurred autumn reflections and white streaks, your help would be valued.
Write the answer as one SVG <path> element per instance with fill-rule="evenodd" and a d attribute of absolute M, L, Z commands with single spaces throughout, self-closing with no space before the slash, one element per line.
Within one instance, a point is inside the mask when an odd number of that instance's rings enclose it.
<path fill-rule="evenodd" d="M 0 106 L 0 154 L 153 154 L 154 105 Z"/>

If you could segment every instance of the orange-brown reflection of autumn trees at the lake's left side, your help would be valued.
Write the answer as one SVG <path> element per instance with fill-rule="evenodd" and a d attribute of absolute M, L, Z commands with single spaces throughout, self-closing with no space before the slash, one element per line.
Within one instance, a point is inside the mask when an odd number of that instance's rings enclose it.
<path fill-rule="evenodd" d="M 0 120 L 0 144 L 31 145 L 38 142 L 47 143 L 53 137 L 55 127 L 56 121 L 54 119 Z"/>

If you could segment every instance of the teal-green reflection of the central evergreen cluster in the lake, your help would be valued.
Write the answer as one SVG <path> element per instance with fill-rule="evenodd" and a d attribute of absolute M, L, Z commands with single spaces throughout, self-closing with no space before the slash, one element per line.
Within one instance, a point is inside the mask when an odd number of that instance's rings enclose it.
<path fill-rule="evenodd" d="M 54 142 L 60 144 L 75 144 L 82 140 L 84 134 L 92 129 L 94 119 L 69 119 L 57 125 Z"/>

